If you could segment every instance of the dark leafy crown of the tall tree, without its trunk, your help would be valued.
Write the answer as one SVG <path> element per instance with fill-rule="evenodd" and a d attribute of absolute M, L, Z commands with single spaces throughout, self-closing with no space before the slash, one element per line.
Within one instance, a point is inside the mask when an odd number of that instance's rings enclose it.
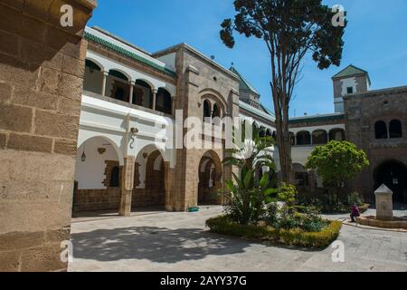
<path fill-rule="evenodd" d="M 235 0 L 234 21 L 221 24 L 221 39 L 226 46 L 235 44 L 233 30 L 254 36 L 269 44 L 278 41 L 283 54 L 311 50 L 320 69 L 340 64 L 344 27 L 332 25 L 334 13 L 321 0 Z M 278 49 L 278 48 L 276 48 Z"/>

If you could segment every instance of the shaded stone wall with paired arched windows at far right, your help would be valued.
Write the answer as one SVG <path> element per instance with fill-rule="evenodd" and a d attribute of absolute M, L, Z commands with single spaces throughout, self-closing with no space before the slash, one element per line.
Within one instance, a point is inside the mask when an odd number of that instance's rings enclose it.
<path fill-rule="evenodd" d="M 370 166 L 352 182 L 368 202 L 374 201 L 374 169 L 386 160 L 407 165 L 407 87 L 345 97 L 346 138 L 367 154 Z M 402 139 L 375 140 L 374 123 L 402 121 Z"/>

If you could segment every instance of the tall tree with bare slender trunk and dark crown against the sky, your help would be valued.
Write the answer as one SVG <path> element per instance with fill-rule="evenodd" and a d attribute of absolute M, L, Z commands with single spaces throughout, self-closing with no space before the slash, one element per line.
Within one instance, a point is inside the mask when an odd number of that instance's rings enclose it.
<path fill-rule="evenodd" d="M 321 70 L 340 65 L 345 26 L 321 0 L 235 0 L 234 20 L 222 23 L 221 39 L 235 44 L 233 31 L 262 39 L 270 53 L 271 94 L 276 115 L 282 181 L 291 182 L 289 102 L 308 53 Z M 336 19 L 337 20 L 337 19 Z"/>

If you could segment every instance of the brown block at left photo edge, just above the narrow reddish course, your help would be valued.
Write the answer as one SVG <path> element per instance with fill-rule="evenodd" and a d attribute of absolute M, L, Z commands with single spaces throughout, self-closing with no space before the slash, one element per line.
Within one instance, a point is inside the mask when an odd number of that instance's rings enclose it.
<path fill-rule="evenodd" d="M 31 108 L 3 104 L 0 106 L 0 129 L 29 132 L 33 118 Z"/>

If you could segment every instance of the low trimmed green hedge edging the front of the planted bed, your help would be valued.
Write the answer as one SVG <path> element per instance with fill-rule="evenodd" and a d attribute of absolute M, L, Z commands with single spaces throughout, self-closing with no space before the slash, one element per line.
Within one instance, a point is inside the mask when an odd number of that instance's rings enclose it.
<path fill-rule="evenodd" d="M 233 237 L 265 240 L 278 245 L 325 248 L 339 236 L 342 223 L 330 221 L 329 226 L 320 232 L 304 232 L 301 229 L 276 229 L 268 226 L 243 226 L 234 223 L 226 216 L 210 218 L 206 226 L 211 232 Z"/>

